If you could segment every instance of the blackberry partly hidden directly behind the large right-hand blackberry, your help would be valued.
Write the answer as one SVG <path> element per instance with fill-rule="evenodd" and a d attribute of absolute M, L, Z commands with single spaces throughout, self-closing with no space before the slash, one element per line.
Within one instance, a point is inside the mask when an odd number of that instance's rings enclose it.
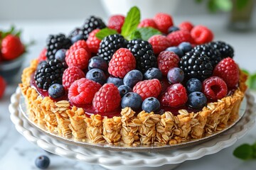
<path fill-rule="evenodd" d="M 218 50 L 215 50 L 210 45 L 196 45 L 196 47 L 193 47 L 193 52 L 199 52 L 201 55 L 206 55 L 210 58 L 210 63 L 213 67 L 218 64 L 221 60 L 221 54 Z"/>

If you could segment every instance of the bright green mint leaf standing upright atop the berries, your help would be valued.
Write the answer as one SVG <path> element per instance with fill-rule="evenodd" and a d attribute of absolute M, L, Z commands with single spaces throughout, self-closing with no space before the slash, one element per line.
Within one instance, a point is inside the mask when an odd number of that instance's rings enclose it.
<path fill-rule="evenodd" d="M 122 26 L 121 35 L 124 38 L 127 38 L 132 34 L 134 30 L 136 30 L 140 21 L 140 11 L 137 6 L 132 7 L 127 13 L 127 17 L 124 20 L 124 25 Z"/>

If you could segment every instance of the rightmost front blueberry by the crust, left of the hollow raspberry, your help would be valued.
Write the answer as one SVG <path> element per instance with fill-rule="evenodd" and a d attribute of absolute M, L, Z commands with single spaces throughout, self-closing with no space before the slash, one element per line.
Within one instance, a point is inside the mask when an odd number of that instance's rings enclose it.
<path fill-rule="evenodd" d="M 203 108 L 206 104 L 207 98 L 202 92 L 194 91 L 188 95 L 188 106 L 191 108 Z"/>

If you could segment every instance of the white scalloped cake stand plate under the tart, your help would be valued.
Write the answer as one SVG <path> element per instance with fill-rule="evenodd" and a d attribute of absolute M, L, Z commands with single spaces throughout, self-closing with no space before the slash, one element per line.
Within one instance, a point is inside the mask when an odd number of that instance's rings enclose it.
<path fill-rule="evenodd" d="M 255 123 L 254 98 L 249 92 L 246 94 L 247 107 L 245 115 L 236 123 L 233 128 L 223 132 L 218 137 L 203 142 L 200 145 L 183 147 L 181 149 L 172 149 L 159 152 L 117 152 L 105 149 L 93 149 L 81 147 L 79 145 L 70 145 L 57 137 L 46 135 L 35 128 L 23 116 L 18 109 L 21 91 L 16 89 L 16 93 L 11 96 L 9 111 L 11 121 L 16 130 L 21 133 L 30 142 L 35 143 L 42 149 L 58 154 L 62 157 L 77 159 L 88 164 L 99 164 L 107 169 L 174 169 L 186 160 L 199 159 L 208 154 L 215 154 L 221 149 L 230 147 L 238 139 L 243 137 L 252 125 Z"/>

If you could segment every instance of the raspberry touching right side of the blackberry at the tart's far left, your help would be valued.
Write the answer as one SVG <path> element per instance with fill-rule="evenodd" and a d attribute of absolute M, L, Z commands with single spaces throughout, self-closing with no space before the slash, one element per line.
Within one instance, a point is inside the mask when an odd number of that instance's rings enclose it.
<path fill-rule="evenodd" d="M 74 81 L 85 77 L 84 72 L 78 67 L 71 66 L 63 72 L 63 86 L 68 90 Z"/>

